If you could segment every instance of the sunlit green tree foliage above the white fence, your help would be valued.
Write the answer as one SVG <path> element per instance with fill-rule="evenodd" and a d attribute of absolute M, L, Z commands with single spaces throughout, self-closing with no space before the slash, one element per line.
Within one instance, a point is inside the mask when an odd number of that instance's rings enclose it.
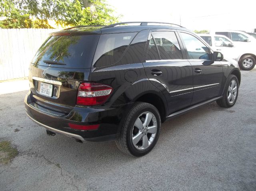
<path fill-rule="evenodd" d="M 118 21 L 105 0 L 0 0 L 1 28 L 107 25 Z"/>

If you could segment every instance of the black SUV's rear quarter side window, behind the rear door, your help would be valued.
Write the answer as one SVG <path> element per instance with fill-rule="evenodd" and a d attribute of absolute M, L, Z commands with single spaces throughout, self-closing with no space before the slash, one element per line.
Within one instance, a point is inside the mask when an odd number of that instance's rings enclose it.
<path fill-rule="evenodd" d="M 116 63 L 126 51 L 136 33 L 102 34 L 94 55 L 94 67 Z"/>

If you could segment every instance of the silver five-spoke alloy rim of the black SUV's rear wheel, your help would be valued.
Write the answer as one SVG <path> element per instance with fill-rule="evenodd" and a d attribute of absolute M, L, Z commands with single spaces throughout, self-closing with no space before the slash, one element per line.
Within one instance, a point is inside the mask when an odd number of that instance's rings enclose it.
<path fill-rule="evenodd" d="M 138 150 L 147 149 L 154 141 L 157 132 L 156 116 L 152 112 L 143 112 L 132 128 L 132 143 Z"/>

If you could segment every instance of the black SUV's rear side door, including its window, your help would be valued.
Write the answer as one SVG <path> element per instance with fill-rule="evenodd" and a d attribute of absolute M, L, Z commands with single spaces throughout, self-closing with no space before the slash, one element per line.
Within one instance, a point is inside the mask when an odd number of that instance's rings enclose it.
<path fill-rule="evenodd" d="M 145 50 L 144 69 L 151 83 L 168 102 L 168 112 L 190 106 L 193 98 L 192 66 L 175 30 L 151 30 Z"/>

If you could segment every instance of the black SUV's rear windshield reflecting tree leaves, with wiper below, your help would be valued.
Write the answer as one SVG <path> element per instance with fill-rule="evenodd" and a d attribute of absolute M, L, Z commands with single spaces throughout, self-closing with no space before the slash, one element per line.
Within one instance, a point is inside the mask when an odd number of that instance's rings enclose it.
<path fill-rule="evenodd" d="M 50 36 L 38 49 L 32 63 L 50 67 L 90 68 L 99 36 Z"/>

